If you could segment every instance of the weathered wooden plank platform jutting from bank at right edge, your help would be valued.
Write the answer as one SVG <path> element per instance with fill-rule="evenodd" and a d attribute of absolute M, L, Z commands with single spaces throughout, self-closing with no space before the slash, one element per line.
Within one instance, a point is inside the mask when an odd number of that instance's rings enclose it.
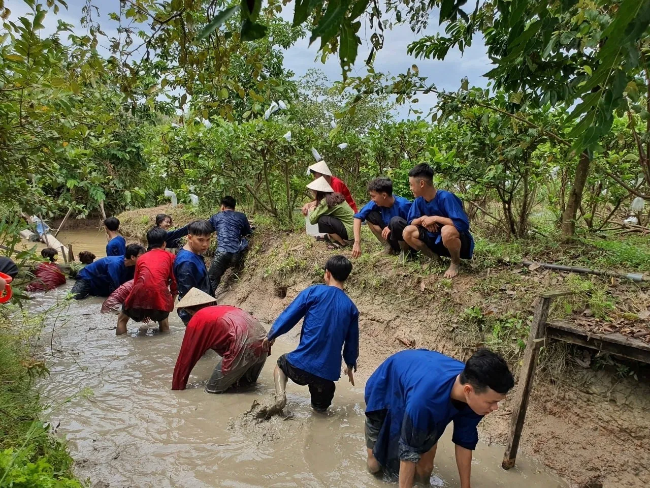
<path fill-rule="evenodd" d="M 590 347 L 602 353 L 612 354 L 650 364 L 650 344 L 640 338 L 624 336 L 618 332 L 595 334 L 568 320 L 546 323 L 547 338 L 562 340 Z"/>

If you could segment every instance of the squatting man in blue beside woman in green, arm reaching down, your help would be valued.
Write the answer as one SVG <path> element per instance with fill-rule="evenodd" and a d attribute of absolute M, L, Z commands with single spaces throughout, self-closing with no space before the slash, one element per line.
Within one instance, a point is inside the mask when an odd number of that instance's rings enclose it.
<path fill-rule="evenodd" d="M 361 256 L 361 222 L 366 221 L 368 228 L 383 244 L 384 254 L 408 251 L 402 232 L 406 228 L 406 217 L 411 209 L 411 202 L 403 197 L 393 195 L 393 182 L 389 178 L 376 178 L 368 183 L 370 202 L 361 211 L 354 214 L 354 245 L 352 257 Z"/>

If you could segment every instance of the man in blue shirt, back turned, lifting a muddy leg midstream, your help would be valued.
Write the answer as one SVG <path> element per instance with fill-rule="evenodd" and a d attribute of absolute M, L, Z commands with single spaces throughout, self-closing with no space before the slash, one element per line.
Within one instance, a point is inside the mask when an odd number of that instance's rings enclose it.
<path fill-rule="evenodd" d="M 263 347 L 273 344 L 276 337 L 291 331 L 304 318 L 298 348 L 280 356 L 273 373 L 279 409 L 287 403 L 285 390 L 287 378 L 291 378 L 297 385 L 308 385 L 311 407 L 325 412 L 334 398 L 334 382 L 341 377 L 341 349 L 344 373 L 354 385 L 352 371 L 356 371 L 359 357 L 359 311 L 343 291 L 351 271 L 352 263 L 345 256 L 332 256 L 325 265 L 326 284 L 301 291 L 268 332 Z"/>

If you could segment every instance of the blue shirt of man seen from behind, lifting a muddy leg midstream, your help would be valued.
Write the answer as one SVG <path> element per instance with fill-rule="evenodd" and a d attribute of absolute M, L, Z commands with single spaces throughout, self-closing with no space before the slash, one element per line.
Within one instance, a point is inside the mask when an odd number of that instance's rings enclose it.
<path fill-rule="evenodd" d="M 287 360 L 308 373 L 337 381 L 341 377 L 341 349 L 345 364 L 356 368 L 359 357 L 359 311 L 335 286 L 305 288 L 276 319 L 268 332 L 273 340 L 286 334 L 304 317 L 300 344 Z"/>

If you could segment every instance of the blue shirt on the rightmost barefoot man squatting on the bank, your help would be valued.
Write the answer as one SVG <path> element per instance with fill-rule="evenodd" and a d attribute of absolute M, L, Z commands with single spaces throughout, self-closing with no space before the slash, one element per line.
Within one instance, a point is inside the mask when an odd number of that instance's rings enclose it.
<path fill-rule="evenodd" d="M 426 215 L 427 217 L 437 215 L 451 219 L 454 227 L 458 229 L 460 234 L 464 233 L 469 236 L 471 241 L 469 257 L 472 257 L 474 253 L 474 237 L 469 233 L 469 219 L 465 210 L 463 210 L 463 202 L 461 202 L 460 198 L 447 190 L 437 190 L 434 199 L 430 202 L 424 200 L 424 197 L 417 197 L 413 200 L 413 205 L 411 205 L 411 210 L 409 210 L 406 221 L 410 224 L 413 219 L 422 217 L 422 215 Z M 438 232 L 429 232 L 427 230 L 426 233 L 430 237 L 434 237 L 436 244 L 441 243 L 443 240 L 440 228 L 438 228 Z"/>

